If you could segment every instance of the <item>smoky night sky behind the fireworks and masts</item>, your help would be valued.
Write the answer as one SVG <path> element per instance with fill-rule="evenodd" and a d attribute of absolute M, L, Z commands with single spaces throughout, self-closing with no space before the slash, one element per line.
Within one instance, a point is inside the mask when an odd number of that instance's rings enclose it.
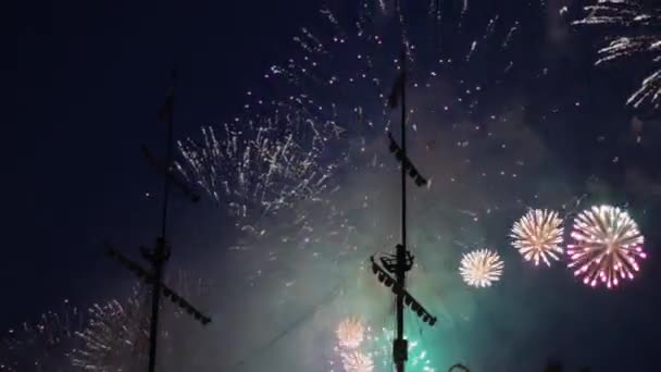
<path fill-rule="evenodd" d="M 428 3 L 409 2 L 422 9 Z M 422 274 L 411 274 L 412 290 L 417 289 L 421 301 L 439 314 L 439 325 L 425 331 L 433 340 L 427 348 L 434 351 L 429 352 L 438 355 L 437 371 L 459 361 L 474 371 L 533 371 L 540 370 L 549 358 L 574 370 L 584 364 L 596 371 L 661 370 L 661 361 L 654 358 L 661 332 L 656 287 L 661 280 L 656 253 L 661 235 L 654 224 L 661 218 L 661 123 L 649 111 L 625 104 L 648 65 L 634 61 L 595 67 L 603 33 L 569 26 L 559 15 L 562 7 L 570 5 L 570 18 L 581 15 L 578 4 L 569 0 L 528 1 L 525 5 L 483 2 L 469 2 L 461 30 L 457 25 L 463 3 L 444 2 L 448 14 L 439 30 L 447 40 L 444 53 L 465 58 L 472 40 L 484 35 L 495 14 L 500 14 L 503 24 L 520 22 L 514 46 L 507 53 L 476 53 L 470 63 L 458 62 L 444 88 L 413 90 L 409 98 L 413 106 L 442 108 L 446 103 L 438 102 L 460 96 L 453 92 L 465 89 L 462 84 L 496 80 L 495 72 L 501 73 L 502 65 L 515 61 L 511 73 L 500 76 L 492 90 L 485 85 L 487 92 L 471 115 L 451 109 L 437 127 L 427 124 L 435 123 L 428 112 L 413 119 L 423 128 L 411 139 L 411 146 L 419 149 L 413 150 L 416 164 L 438 179 L 442 190 L 436 195 L 442 195 L 441 199 L 412 201 L 411 215 L 417 222 L 410 227 L 425 263 L 420 268 Z M 357 16 L 359 7 L 352 1 L 330 4 L 340 9 L 338 18 Z M 320 1 L 301 0 L 115 1 L 24 2 L 16 9 L 16 64 L 3 72 L 15 104 L 4 116 L 9 172 L 2 186 L 7 201 L 0 328 L 58 311 L 65 299 L 87 308 L 127 295 L 135 280 L 104 257 L 103 243 L 138 257 L 137 248 L 152 245 L 159 233 L 161 179 L 141 157 L 140 146 L 164 152 L 165 125 L 157 121 L 157 111 L 171 70 L 176 65 L 175 137 L 199 138 L 201 126 L 220 125 L 250 111 L 244 107 L 247 91 L 270 99 L 290 94 L 290 86 L 266 84 L 263 76 L 274 63 L 297 54 L 292 36 L 301 26 L 314 30 L 322 20 L 321 5 Z M 424 12 L 411 14 L 426 16 Z M 415 23 L 412 17 L 409 21 Z M 424 23 L 412 27 L 412 39 L 425 39 Z M 397 39 L 384 42 L 392 44 L 384 57 L 389 62 L 397 58 Z M 340 74 L 354 69 L 350 61 L 356 53 L 353 49 L 339 53 L 333 69 Z M 421 60 L 420 71 L 433 70 Z M 412 76 L 420 77 L 415 72 Z M 457 85 L 459 79 L 464 82 Z M 374 103 L 379 98 L 367 89 L 342 96 L 316 87 L 309 94 L 323 106 L 337 99 L 364 102 L 347 103 L 349 111 L 354 107 L 349 104 L 362 104 L 366 115 L 379 110 Z M 499 139 L 479 137 L 467 150 L 456 146 L 461 134 L 450 123 L 482 124 L 491 112 L 517 119 L 484 123 Z M 640 133 L 633 132 L 635 120 L 644 122 Z M 352 131 L 348 136 L 348 145 L 325 156 L 339 157 L 360 146 L 353 141 Z M 390 160 L 383 138 L 375 138 L 369 137 L 366 147 L 378 148 L 375 151 Z M 512 152 L 492 149 L 494 141 L 501 139 L 514 144 L 508 150 Z M 438 149 L 423 152 L 431 142 Z M 465 151 L 472 152 L 466 156 Z M 466 157 L 473 161 L 471 165 L 463 162 Z M 523 179 L 515 182 L 489 178 L 460 186 L 441 181 L 450 172 L 465 172 L 465 179 L 473 179 L 467 174 L 507 166 L 502 165 L 506 162 L 513 166 L 520 159 L 527 164 L 523 170 L 503 168 L 508 174 L 520 172 Z M 358 268 L 382 249 L 375 246 L 390 241 L 374 235 L 386 236 L 398 228 L 398 184 L 383 186 L 397 179 L 392 176 L 387 171 L 365 174 L 350 166 L 339 172 L 335 182 L 347 194 L 330 199 L 338 209 L 347 210 L 352 223 L 366 226 L 375 216 L 390 216 L 353 240 L 367 248 L 338 257 L 328 253 L 330 248 L 317 249 L 308 241 L 307 250 L 289 249 L 280 235 L 296 235 L 290 231 L 296 227 L 287 227 L 288 220 L 282 215 L 264 222 L 262 226 L 270 233 L 261 240 L 250 240 L 251 249 L 230 249 L 246 238 L 222 207 L 204 194 L 197 204 L 175 196 L 169 269 L 184 270 L 210 283 L 202 307 L 214 318 L 207 331 L 195 327 L 190 332 L 196 335 L 194 344 L 201 346 L 186 368 L 328 371 L 328 339 L 338 319 L 351 312 L 369 313 L 378 322 L 387 315 L 387 309 L 374 309 L 387 306 L 389 293 L 381 290 L 369 270 Z M 362 202 L 359 196 L 372 191 L 379 201 L 370 214 L 352 207 Z M 610 292 L 588 288 L 564 269 L 564 262 L 551 269 L 534 268 L 508 245 L 509 228 L 525 207 L 559 208 L 579 197 L 585 208 L 593 203 L 625 207 L 639 223 L 649 259 L 641 263 L 635 281 Z M 416 201 L 438 207 L 415 207 Z M 502 208 L 485 213 L 487 204 Z M 516 207 L 504 207 L 512 204 Z M 461 211 L 478 212 L 467 218 Z M 452 228 L 462 233 L 454 234 Z M 452 236 L 442 240 L 442 253 L 429 247 L 435 231 Z M 464 286 L 456 268 L 465 247 L 451 244 L 458 240 L 497 246 L 506 261 L 504 277 L 488 289 Z M 324 262 L 305 256 L 315 249 L 323 252 Z M 261 282 L 254 280 L 257 271 Z M 280 282 L 286 285 L 279 286 Z M 335 287 L 342 296 L 328 298 Z M 320 303 L 326 306 L 317 308 Z M 315 310 L 311 313 L 310 309 Z M 414 323 L 414 317 L 407 320 Z M 290 328 L 294 331 L 283 333 Z"/>

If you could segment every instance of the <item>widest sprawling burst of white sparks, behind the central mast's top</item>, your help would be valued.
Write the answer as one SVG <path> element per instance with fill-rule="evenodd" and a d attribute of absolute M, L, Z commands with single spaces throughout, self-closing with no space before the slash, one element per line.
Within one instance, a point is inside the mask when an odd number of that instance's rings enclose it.
<path fill-rule="evenodd" d="M 415 97 L 409 103 L 409 138 L 421 145 L 415 148 L 425 149 L 421 152 L 445 153 L 444 149 L 460 148 L 462 153 L 461 160 L 447 161 L 453 163 L 449 165 L 452 169 L 438 175 L 442 177 L 438 185 L 522 176 L 521 172 L 507 171 L 508 166 L 522 166 L 514 165 L 509 153 L 498 173 L 475 172 L 488 169 L 478 164 L 483 158 L 477 151 L 495 146 L 502 149 L 508 141 L 487 128 L 488 122 L 507 119 L 495 112 L 499 109 L 481 102 L 487 101 L 487 94 L 503 88 L 502 80 L 512 71 L 515 61 L 510 51 L 519 40 L 519 22 L 495 14 L 470 33 L 469 41 L 457 41 L 462 23 L 446 20 L 449 14 L 444 12 L 444 25 L 451 27 L 438 27 L 439 2 L 428 2 L 423 12 L 414 7 L 382 5 L 361 0 L 356 16 L 347 18 L 340 16 L 344 7 L 322 8 L 314 25 L 301 27 L 294 37 L 291 54 L 275 61 L 260 87 L 247 95 L 245 112 L 179 142 L 179 172 L 226 206 L 241 231 L 259 238 L 241 237 L 234 249 L 245 250 L 271 239 L 292 248 L 314 246 L 314 255 L 321 256 L 320 247 L 334 244 L 341 248 L 333 248 L 326 256 L 344 257 L 359 249 L 357 241 L 381 227 L 382 221 L 370 226 L 358 222 L 370 213 L 365 211 L 386 202 L 386 193 L 361 189 L 349 202 L 347 181 L 367 173 L 376 179 L 397 168 L 387 150 L 383 151 L 392 119 L 385 103 L 401 66 L 401 39 L 392 36 L 400 34 L 398 18 L 407 12 L 407 17 L 431 21 L 406 25 L 411 28 L 404 32 L 406 55 L 412 66 L 409 88 Z M 485 21 L 479 17 L 481 23 Z M 452 48 L 440 48 L 440 39 L 452 39 Z M 473 63 L 485 60 L 489 63 L 481 65 L 478 72 L 465 73 Z M 276 94 L 269 96 L 271 91 Z M 464 114 L 470 117 L 458 117 Z M 439 126 L 426 125 L 435 120 L 453 124 L 444 127 L 446 133 L 437 138 Z M 452 151 L 452 156 L 460 152 Z M 477 208 L 482 207 L 484 203 Z M 485 210 L 490 212 L 490 207 Z M 269 223 L 275 219 L 277 224 Z M 359 234 L 364 236 L 357 237 Z M 332 244 L 322 244 L 329 240 Z M 273 251 L 270 260 L 280 255 Z"/>

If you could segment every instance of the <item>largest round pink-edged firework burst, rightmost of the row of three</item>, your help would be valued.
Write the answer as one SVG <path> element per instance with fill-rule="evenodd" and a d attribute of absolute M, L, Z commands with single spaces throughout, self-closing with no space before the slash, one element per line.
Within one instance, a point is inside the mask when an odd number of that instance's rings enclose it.
<path fill-rule="evenodd" d="M 593 287 L 601 282 L 611 288 L 620 278 L 633 280 L 639 270 L 636 260 L 647 257 L 638 225 L 620 208 L 599 206 L 583 211 L 574 220 L 571 236 L 569 268 L 577 268 L 574 275 L 582 275 L 583 283 Z"/>

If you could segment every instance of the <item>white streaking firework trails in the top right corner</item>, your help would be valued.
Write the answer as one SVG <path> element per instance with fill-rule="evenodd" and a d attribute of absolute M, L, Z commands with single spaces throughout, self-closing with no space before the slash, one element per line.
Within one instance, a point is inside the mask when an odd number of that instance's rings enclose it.
<path fill-rule="evenodd" d="M 640 87 L 632 94 L 627 104 L 639 108 L 649 104 L 661 107 L 661 9 L 644 5 L 637 0 L 599 0 L 585 7 L 588 15 L 575 21 L 579 25 L 603 25 L 612 29 L 608 45 L 599 50 L 596 64 L 636 57 L 651 61 L 652 71 Z"/>

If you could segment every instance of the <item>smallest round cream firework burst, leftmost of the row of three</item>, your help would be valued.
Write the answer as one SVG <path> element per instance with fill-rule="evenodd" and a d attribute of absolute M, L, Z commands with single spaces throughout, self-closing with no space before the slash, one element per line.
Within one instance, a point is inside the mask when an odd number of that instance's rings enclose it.
<path fill-rule="evenodd" d="M 497 252 L 488 249 L 463 255 L 459 273 L 463 281 L 474 287 L 489 287 L 500 278 L 504 263 Z"/>

